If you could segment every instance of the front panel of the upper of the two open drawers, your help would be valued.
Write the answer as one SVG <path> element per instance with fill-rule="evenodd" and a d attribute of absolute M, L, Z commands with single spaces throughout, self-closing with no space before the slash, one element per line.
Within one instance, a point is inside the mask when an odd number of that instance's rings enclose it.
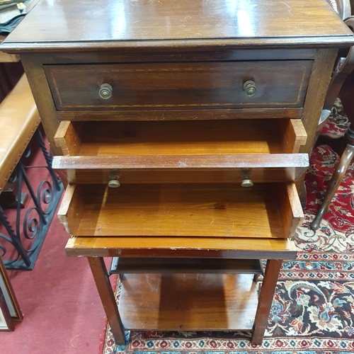
<path fill-rule="evenodd" d="M 181 156 L 180 156 L 181 157 Z M 297 181 L 307 171 L 307 154 L 239 156 L 154 156 L 122 158 L 55 156 L 53 168 L 69 183 L 261 183 Z M 64 174 L 63 174 L 64 173 Z M 251 181 L 251 182 L 250 182 Z"/>

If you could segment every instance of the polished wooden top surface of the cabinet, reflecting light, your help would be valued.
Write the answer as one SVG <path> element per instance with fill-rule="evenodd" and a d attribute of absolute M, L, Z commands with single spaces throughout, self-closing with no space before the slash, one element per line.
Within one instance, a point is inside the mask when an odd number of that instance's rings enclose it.
<path fill-rule="evenodd" d="M 345 45 L 326 0 L 40 0 L 4 49 L 69 46 Z"/>

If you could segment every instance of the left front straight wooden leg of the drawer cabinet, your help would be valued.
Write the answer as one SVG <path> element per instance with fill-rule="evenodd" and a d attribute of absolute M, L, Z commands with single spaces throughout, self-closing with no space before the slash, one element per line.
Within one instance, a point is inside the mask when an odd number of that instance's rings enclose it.
<path fill-rule="evenodd" d="M 112 286 L 108 279 L 107 268 L 101 257 L 88 257 L 93 278 L 96 282 L 98 294 L 101 297 L 103 309 L 107 316 L 110 329 L 112 330 L 115 343 L 124 344 L 124 327 L 118 312 L 118 306 L 115 302 Z"/>

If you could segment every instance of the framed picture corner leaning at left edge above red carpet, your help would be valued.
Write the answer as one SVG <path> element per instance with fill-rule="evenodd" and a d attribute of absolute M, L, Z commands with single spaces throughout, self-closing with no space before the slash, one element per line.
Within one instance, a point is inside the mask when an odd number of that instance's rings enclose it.
<path fill-rule="evenodd" d="M 0 256 L 0 331 L 11 331 L 11 322 L 22 321 L 23 314 L 16 299 L 4 262 Z M 8 320 L 8 317 L 10 319 Z M 6 329 L 6 324 L 8 329 Z M 3 327 L 4 328 L 3 328 Z"/>

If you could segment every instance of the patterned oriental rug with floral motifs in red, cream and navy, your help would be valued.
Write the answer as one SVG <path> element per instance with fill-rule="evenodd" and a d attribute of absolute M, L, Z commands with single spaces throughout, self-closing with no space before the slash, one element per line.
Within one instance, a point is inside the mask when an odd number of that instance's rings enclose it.
<path fill-rule="evenodd" d="M 340 101 L 324 130 L 348 127 Z M 115 347 L 108 328 L 103 354 L 346 354 L 354 353 L 354 166 L 348 169 L 317 232 L 309 224 L 324 196 L 339 156 L 314 149 L 306 176 L 307 209 L 298 227 L 296 261 L 284 262 L 261 346 L 246 332 L 127 332 Z M 119 284 L 117 289 L 119 301 Z"/>

